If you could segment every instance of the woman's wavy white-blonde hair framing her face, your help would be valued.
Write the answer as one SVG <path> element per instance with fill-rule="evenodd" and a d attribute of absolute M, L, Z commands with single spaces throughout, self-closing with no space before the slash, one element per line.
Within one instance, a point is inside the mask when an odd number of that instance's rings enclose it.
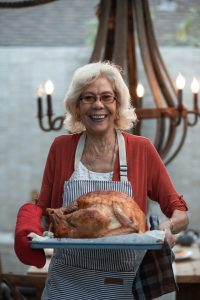
<path fill-rule="evenodd" d="M 64 125 L 67 130 L 71 133 L 85 130 L 85 126 L 79 117 L 79 99 L 84 89 L 100 77 L 109 80 L 117 96 L 115 128 L 128 130 L 136 125 L 135 109 L 131 106 L 129 89 L 121 73 L 120 67 L 110 62 L 89 63 L 74 72 L 64 98 L 66 108 Z"/>

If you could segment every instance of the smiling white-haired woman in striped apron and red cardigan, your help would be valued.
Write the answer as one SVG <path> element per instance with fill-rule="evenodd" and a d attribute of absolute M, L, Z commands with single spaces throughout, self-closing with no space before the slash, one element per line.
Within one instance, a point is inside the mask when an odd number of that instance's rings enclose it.
<path fill-rule="evenodd" d="M 26 204 L 18 213 L 15 251 L 20 260 L 44 265 L 43 250 L 31 250 L 27 234 L 42 234 L 47 207 L 66 206 L 95 190 L 125 192 L 145 214 L 147 197 L 157 201 L 166 216 L 160 229 L 173 247 L 174 234 L 188 224 L 187 205 L 152 143 L 125 132 L 137 117 L 120 69 L 108 62 L 77 69 L 65 107 L 71 134 L 57 137 L 50 148 L 37 205 Z M 56 250 L 42 299 L 133 299 L 133 262 L 133 250 Z M 121 276 L 124 285 L 103 284 L 108 274 Z"/>

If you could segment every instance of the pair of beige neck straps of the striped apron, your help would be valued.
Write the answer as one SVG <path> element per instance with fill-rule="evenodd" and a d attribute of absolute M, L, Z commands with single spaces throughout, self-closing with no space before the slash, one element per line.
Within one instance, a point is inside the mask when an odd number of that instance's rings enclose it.
<path fill-rule="evenodd" d="M 128 181 L 128 166 L 127 166 L 127 159 L 126 159 L 126 146 L 124 137 L 120 130 L 116 130 L 117 133 L 117 142 L 119 147 L 119 171 L 120 171 L 120 180 L 121 181 Z M 75 153 L 75 161 L 74 161 L 74 169 L 76 170 L 78 164 L 81 160 L 81 156 L 83 154 L 83 149 L 85 146 L 85 139 L 86 139 L 86 132 L 80 136 L 78 141 L 78 145 L 76 147 Z"/>

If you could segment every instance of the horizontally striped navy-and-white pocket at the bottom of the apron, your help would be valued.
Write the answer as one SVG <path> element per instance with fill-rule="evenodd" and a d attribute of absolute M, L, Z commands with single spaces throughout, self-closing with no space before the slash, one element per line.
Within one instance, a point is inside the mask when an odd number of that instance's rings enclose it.
<path fill-rule="evenodd" d="M 57 276 L 54 276 L 54 275 Z M 106 284 L 106 279 L 122 284 Z M 51 263 L 42 300 L 132 300 L 134 272 L 102 272 Z"/>

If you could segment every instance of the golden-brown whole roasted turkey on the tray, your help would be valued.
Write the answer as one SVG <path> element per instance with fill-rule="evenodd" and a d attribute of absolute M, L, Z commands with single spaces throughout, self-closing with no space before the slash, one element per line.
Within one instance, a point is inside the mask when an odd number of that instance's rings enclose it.
<path fill-rule="evenodd" d="M 58 238 L 97 238 L 145 231 L 145 215 L 125 193 L 95 191 L 66 207 L 47 208 L 50 230 Z"/>

